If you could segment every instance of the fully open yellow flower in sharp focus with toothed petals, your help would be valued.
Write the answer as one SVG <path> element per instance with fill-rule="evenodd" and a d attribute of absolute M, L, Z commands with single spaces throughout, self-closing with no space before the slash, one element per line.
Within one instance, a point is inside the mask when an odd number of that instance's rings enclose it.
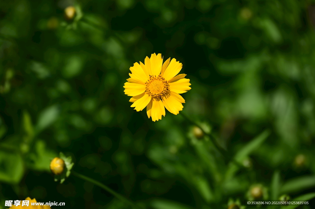
<path fill-rule="evenodd" d="M 129 100 L 133 102 L 131 107 L 135 107 L 136 111 L 146 107 L 148 118 L 151 117 L 152 121 L 162 119 L 165 108 L 177 115 L 183 109 L 182 103 L 185 103 L 179 94 L 191 89 L 186 74 L 177 75 L 182 63 L 176 62 L 175 58 L 170 59 L 163 63 L 162 55 L 154 53 L 151 58 L 145 58 L 144 64 L 134 63 L 130 67 L 130 78 L 123 86 L 125 94 L 132 96 Z"/>

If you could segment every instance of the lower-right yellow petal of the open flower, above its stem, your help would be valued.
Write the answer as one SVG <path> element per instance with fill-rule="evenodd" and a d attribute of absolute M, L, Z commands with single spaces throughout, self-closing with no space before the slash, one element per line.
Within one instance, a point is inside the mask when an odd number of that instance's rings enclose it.
<path fill-rule="evenodd" d="M 175 92 L 172 92 L 172 91 L 169 91 L 167 92 L 166 94 L 164 94 L 162 100 L 163 100 L 163 104 L 165 106 L 165 108 L 177 115 L 179 113 L 180 110 L 183 110 L 183 105 L 181 104 L 180 101 L 184 100 L 179 94 L 175 93 Z M 185 100 L 184 100 L 185 102 Z"/>

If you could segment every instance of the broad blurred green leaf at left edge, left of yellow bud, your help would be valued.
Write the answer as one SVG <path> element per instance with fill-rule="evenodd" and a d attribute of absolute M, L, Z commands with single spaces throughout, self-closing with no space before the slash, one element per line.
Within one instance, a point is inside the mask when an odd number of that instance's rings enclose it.
<path fill-rule="evenodd" d="M 0 181 L 18 184 L 23 174 L 23 159 L 20 154 L 0 151 Z"/>

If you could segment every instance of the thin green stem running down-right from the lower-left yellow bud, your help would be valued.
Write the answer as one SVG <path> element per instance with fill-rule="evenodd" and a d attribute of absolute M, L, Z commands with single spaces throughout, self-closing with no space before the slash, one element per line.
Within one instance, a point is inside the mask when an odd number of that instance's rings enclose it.
<path fill-rule="evenodd" d="M 85 181 L 88 181 L 92 184 L 95 184 L 96 186 L 99 186 L 100 188 L 108 191 L 109 193 L 111 193 L 113 196 L 115 196 L 117 199 L 127 203 L 128 205 L 132 206 L 133 208 L 137 208 L 137 209 L 144 209 L 143 207 L 140 207 L 140 206 L 137 206 L 135 205 L 135 203 L 133 203 L 132 201 L 128 200 L 127 198 L 125 198 L 123 195 L 120 195 L 118 194 L 117 192 L 115 192 L 114 190 L 112 190 L 111 188 L 109 188 L 108 186 L 106 186 L 105 184 L 102 184 L 101 182 L 99 181 L 96 181 L 90 177 L 87 177 L 87 176 L 84 176 L 80 173 L 77 173 L 75 171 L 72 171 L 71 172 L 74 176 L 80 178 L 80 179 L 83 179 Z"/>

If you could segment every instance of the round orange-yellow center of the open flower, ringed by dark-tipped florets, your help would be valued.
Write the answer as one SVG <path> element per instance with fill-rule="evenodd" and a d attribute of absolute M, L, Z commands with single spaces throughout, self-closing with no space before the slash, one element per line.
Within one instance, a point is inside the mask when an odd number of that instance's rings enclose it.
<path fill-rule="evenodd" d="M 152 97 L 162 98 L 162 96 L 169 91 L 169 84 L 161 76 L 150 75 L 149 80 L 146 82 L 146 92 Z"/>

